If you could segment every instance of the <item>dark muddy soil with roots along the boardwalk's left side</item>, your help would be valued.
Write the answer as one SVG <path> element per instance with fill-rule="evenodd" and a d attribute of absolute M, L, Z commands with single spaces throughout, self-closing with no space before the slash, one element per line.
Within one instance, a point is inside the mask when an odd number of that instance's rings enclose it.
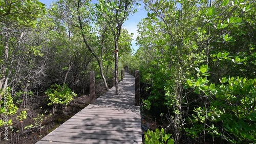
<path fill-rule="evenodd" d="M 105 93 L 103 83 L 99 82 L 96 84 L 96 98 Z M 53 106 L 48 106 L 48 97 L 46 94 L 41 94 L 28 98 L 26 107 L 20 106 L 17 114 L 12 117 L 13 125 L 12 128 L 8 129 L 9 140 L 4 139 L 4 135 L 1 134 L 0 143 L 36 143 L 42 137 L 49 134 L 51 131 L 56 129 L 59 125 L 66 122 L 74 114 L 82 110 L 84 107 L 88 106 L 89 91 L 85 94 L 77 94 L 78 96 L 65 108 L 64 106 L 59 106 L 53 113 Z M 18 121 L 17 115 L 21 111 L 27 111 L 27 118 L 24 121 Z M 35 119 L 38 117 L 37 119 Z M 42 118 L 42 121 L 40 121 Z M 25 129 L 25 126 L 29 125 L 35 126 L 29 129 Z M 4 128 L 1 127 L 2 132 Z"/>

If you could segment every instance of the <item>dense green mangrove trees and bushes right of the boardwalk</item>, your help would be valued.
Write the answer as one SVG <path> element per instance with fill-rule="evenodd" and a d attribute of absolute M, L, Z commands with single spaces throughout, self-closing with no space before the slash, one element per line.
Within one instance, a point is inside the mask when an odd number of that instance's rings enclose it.
<path fill-rule="evenodd" d="M 144 110 L 176 143 L 255 143 L 255 1 L 144 3 L 133 65 Z"/>

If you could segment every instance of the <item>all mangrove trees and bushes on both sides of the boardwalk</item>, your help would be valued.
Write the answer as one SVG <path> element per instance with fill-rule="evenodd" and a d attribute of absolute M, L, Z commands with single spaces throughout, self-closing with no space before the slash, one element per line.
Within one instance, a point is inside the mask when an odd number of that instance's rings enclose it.
<path fill-rule="evenodd" d="M 148 17 L 132 55 L 122 25 L 135 1 L 59 0 L 46 9 L 37 0 L 0 0 L 1 139 L 6 126 L 13 142 L 14 133 L 42 129 L 88 91 L 90 70 L 108 90 L 118 67 L 129 66 L 140 70 L 143 112 L 163 124 L 145 133 L 146 143 L 255 143 L 255 1 L 143 3 Z M 34 98 L 48 112 L 29 114 Z"/>

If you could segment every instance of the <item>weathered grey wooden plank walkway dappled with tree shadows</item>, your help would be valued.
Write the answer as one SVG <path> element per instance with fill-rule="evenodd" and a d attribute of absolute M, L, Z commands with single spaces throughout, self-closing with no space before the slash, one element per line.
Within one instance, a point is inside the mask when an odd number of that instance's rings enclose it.
<path fill-rule="evenodd" d="M 36 144 L 142 143 L 140 108 L 134 101 L 135 78 L 125 73 L 119 95 L 113 87 Z"/>

